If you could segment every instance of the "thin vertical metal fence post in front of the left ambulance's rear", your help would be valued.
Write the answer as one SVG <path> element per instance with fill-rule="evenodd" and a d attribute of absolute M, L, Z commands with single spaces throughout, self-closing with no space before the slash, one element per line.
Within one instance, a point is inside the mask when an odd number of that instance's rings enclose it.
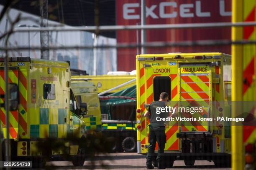
<path fill-rule="evenodd" d="M 9 89 L 8 89 L 8 54 L 5 54 L 5 122 L 6 122 L 6 161 L 9 161 Z"/>

